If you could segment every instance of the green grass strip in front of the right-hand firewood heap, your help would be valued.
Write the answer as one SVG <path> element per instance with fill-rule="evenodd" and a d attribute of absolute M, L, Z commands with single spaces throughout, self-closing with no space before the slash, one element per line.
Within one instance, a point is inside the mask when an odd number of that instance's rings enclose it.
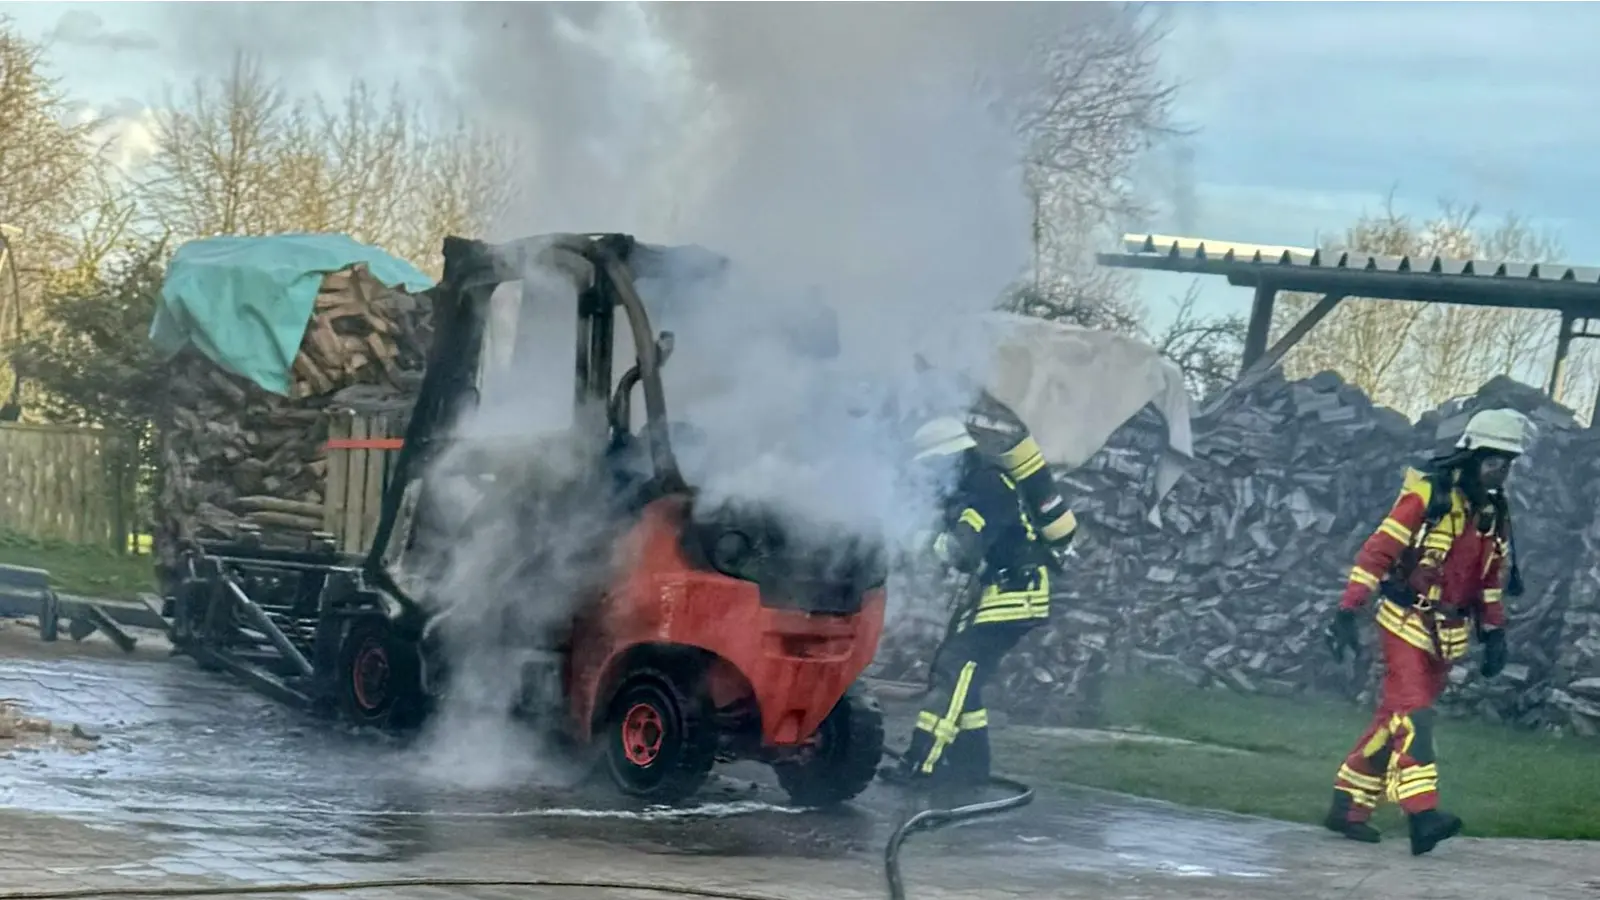
<path fill-rule="evenodd" d="M 997 757 L 1024 762 L 1046 785 L 1322 822 L 1333 773 L 1368 713 L 1334 700 L 1246 697 L 1155 679 L 1114 681 L 1106 711 L 1109 727 L 1211 746 L 1064 745 L 1003 729 Z M 1435 735 L 1442 806 L 1466 818 L 1467 834 L 1600 839 L 1600 741 L 1464 719 L 1442 719 Z M 1386 804 L 1378 825 L 1398 828 L 1398 812 Z"/>

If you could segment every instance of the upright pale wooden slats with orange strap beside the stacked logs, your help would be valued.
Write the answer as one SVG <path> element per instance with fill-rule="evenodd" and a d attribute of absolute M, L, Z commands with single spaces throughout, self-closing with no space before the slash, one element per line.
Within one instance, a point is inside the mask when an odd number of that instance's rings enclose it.
<path fill-rule="evenodd" d="M 400 423 L 390 416 L 334 412 L 328 421 L 323 528 L 344 552 L 366 552 L 378 533 L 384 488 L 400 456 Z"/>

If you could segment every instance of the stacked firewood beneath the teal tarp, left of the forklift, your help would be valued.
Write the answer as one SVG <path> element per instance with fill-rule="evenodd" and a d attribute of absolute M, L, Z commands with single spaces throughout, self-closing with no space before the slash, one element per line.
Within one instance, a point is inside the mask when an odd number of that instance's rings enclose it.
<path fill-rule="evenodd" d="M 157 423 L 162 562 L 181 540 L 232 536 L 240 522 L 288 544 L 323 530 L 330 410 L 408 410 L 430 314 L 424 298 L 384 287 L 363 264 L 325 275 L 286 397 L 181 351 Z"/>

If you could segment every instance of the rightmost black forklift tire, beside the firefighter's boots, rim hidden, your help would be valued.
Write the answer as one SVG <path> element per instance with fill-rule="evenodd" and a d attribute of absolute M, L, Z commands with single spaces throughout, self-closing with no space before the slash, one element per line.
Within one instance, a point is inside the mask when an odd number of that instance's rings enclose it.
<path fill-rule="evenodd" d="M 883 761 L 883 709 L 851 687 L 816 730 L 816 745 L 773 772 L 795 806 L 830 807 L 856 799 Z"/>

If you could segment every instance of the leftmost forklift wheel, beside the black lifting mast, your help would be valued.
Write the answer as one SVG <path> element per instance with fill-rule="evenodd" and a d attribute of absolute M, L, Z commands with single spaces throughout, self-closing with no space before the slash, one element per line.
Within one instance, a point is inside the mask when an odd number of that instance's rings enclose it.
<path fill-rule="evenodd" d="M 414 645 L 397 639 L 386 620 L 358 620 L 339 644 L 339 714 L 362 727 L 411 727 L 422 706 L 419 674 Z"/>

